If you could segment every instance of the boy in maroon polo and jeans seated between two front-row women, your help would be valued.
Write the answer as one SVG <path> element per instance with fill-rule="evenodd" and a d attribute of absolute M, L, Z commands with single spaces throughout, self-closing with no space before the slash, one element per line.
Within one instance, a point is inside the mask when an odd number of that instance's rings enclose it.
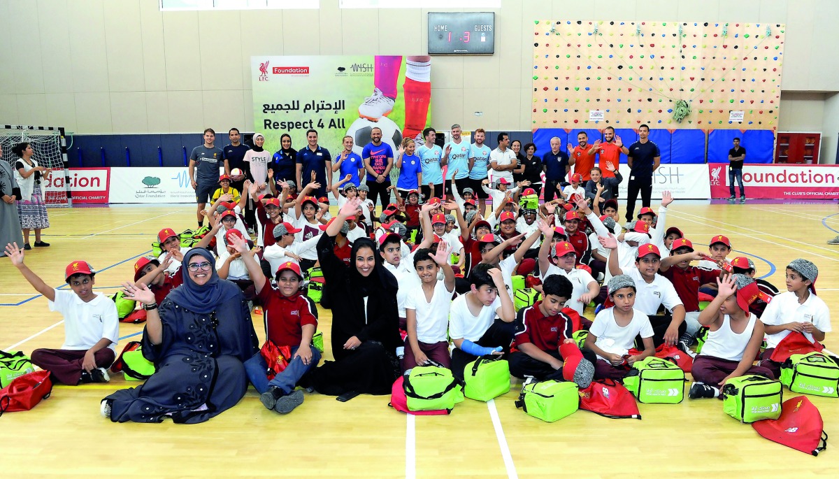
<path fill-rule="evenodd" d="M 248 247 L 248 242 L 232 238 L 232 246 L 242 254 L 262 302 L 267 341 L 291 349 L 288 365 L 270 381 L 266 373 L 268 363 L 261 351 L 245 362 L 245 372 L 267 409 L 288 414 L 303 404 L 303 391 L 294 389 L 300 378 L 320 362 L 320 351 L 312 346 L 312 336 L 317 330 L 317 306 L 305 294 L 300 294 L 303 284 L 300 265 L 290 261 L 281 264 L 275 276 L 277 288 L 274 288 L 263 275 L 254 258 L 256 252 Z"/>

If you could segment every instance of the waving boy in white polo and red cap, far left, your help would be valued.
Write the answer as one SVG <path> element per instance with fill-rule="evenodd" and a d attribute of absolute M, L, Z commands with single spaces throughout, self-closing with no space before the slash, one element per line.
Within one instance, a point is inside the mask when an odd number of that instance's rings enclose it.
<path fill-rule="evenodd" d="M 65 279 L 72 291 L 50 288 L 23 264 L 23 250 L 17 243 L 6 246 L 6 254 L 23 278 L 50 300 L 50 311 L 64 315 L 65 341 L 61 349 L 36 349 L 32 363 L 51 372 L 57 383 L 107 383 L 106 368 L 111 366 L 119 340 L 117 305 L 104 294 L 94 293 L 96 274 L 85 261 L 74 261 L 65 268 Z"/>

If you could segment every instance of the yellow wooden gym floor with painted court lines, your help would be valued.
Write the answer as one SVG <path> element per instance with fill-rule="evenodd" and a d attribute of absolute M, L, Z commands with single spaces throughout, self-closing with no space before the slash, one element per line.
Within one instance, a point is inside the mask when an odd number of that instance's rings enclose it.
<path fill-rule="evenodd" d="M 112 294 L 133 277 L 134 261 L 149 253 L 160 228 L 181 231 L 195 225 L 195 207 L 52 209 L 50 222 L 44 240 L 52 247 L 27 252 L 29 267 L 58 287 L 64 284 L 66 263 L 86 259 L 100 271 L 96 287 Z M 753 258 L 758 276 L 768 274 L 782 291 L 784 266 L 793 258 L 808 258 L 820 269 L 820 297 L 831 306 L 839 298 L 839 247 L 825 243 L 839 230 L 835 202 L 709 205 L 677 200 L 667 225 L 679 226 L 697 245 L 727 235 L 737 251 L 732 257 Z M 59 347 L 64 338 L 60 321 L 8 260 L 0 259 L 0 348 L 29 353 Z M 263 336 L 261 317 L 254 322 Z M 329 335 L 330 325 L 331 312 L 321 310 L 320 330 Z M 827 335 L 826 346 L 839 351 L 839 324 L 835 330 Z M 142 325 L 120 325 L 117 351 L 140 331 Z M 328 338 L 325 343 L 328 347 Z M 818 458 L 806 456 L 729 418 L 717 400 L 639 404 L 640 421 L 579 411 L 546 424 L 515 408 L 519 384 L 488 404 L 466 399 L 450 416 L 420 417 L 388 408 L 388 397 L 339 403 L 318 394 L 307 394 L 294 413 L 279 416 L 266 410 L 251 388 L 241 404 L 204 424 L 102 419 L 100 400 L 136 384 L 117 376 L 107 384 L 56 386 L 33 411 L 4 414 L 3 477 L 839 476 L 839 445 L 829 441 Z M 784 390 L 784 398 L 793 396 Z M 839 437 L 839 400 L 810 400 L 821 409 L 828 435 Z"/>

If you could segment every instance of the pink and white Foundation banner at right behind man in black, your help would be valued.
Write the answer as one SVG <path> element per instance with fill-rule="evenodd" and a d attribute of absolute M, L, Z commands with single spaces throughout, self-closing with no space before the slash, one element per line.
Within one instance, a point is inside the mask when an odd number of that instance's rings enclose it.
<path fill-rule="evenodd" d="M 711 198 L 728 198 L 728 164 L 708 164 Z M 839 165 L 745 164 L 743 185 L 747 198 L 775 200 L 835 200 L 839 198 Z M 740 185 L 735 180 L 737 196 Z"/>

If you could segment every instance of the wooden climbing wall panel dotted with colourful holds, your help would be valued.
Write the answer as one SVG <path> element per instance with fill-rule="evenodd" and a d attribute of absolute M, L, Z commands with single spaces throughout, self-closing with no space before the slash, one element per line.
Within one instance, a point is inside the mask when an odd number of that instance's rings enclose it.
<path fill-rule="evenodd" d="M 784 25 L 537 20 L 533 128 L 778 126 Z M 683 100 L 690 113 L 677 122 Z M 602 120 L 590 120 L 600 110 Z M 743 111 L 743 122 L 729 112 Z M 597 126 L 595 126 L 597 125 Z"/>

